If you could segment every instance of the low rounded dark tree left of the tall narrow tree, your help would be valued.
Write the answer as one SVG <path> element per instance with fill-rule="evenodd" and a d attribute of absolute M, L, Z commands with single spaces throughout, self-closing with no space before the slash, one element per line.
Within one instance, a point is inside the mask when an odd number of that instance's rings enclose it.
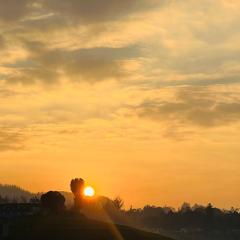
<path fill-rule="evenodd" d="M 50 191 L 41 196 L 42 206 L 50 212 L 59 212 L 65 208 L 65 198 L 59 192 Z"/>

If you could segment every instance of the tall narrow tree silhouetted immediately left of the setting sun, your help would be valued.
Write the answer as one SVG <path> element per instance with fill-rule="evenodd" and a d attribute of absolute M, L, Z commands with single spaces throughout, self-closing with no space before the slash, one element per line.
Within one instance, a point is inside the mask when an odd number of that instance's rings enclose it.
<path fill-rule="evenodd" d="M 71 191 L 74 194 L 74 207 L 79 210 L 83 205 L 84 180 L 75 178 L 71 181 Z"/>

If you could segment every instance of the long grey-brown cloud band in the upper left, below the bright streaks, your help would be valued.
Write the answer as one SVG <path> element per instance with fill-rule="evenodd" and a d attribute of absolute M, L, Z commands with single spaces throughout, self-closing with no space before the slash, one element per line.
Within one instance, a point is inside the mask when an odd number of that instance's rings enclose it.
<path fill-rule="evenodd" d="M 9 82 L 51 84 L 64 77 L 87 82 L 120 79 L 129 73 L 124 68 L 125 62 L 139 56 L 135 46 L 67 51 L 49 49 L 41 42 L 25 44 L 29 57 L 15 64 L 17 72 L 6 78 Z"/>

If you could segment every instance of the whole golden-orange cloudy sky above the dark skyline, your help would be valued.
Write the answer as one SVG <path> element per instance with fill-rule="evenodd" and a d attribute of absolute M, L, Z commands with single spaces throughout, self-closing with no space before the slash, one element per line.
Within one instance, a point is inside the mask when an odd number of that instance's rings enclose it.
<path fill-rule="evenodd" d="M 0 182 L 239 207 L 239 25 L 238 0 L 0 0 Z"/>

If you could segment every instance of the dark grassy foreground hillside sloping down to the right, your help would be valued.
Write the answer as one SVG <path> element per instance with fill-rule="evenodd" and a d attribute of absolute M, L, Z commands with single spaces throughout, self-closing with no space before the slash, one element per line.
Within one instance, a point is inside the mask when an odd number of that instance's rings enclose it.
<path fill-rule="evenodd" d="M 170 240 L 126 226 L 114 226 L 70 215 L 15 220 L 11 223 L 7 239 Z"/>

